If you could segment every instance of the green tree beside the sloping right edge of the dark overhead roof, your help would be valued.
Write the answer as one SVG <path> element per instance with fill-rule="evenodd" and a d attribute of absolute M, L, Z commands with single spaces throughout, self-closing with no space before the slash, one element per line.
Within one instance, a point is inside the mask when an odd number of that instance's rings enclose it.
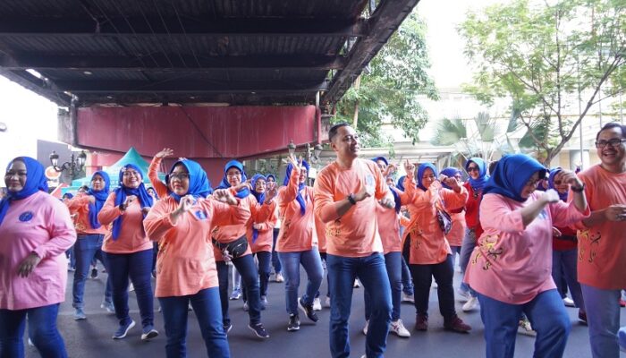
<path fill-rule="evenodd" d="M 369 63 L 369 71 L 337 103 L 333 122 L 356 122 L 363 145 L 368 147 L 392 142 L 380 130 L 383 121 L 418 141 L 428 116 L 417 96 L 438 98 L 435 82 L 426 72 L 429 67 L 426 24 L 414 10 Z"/>

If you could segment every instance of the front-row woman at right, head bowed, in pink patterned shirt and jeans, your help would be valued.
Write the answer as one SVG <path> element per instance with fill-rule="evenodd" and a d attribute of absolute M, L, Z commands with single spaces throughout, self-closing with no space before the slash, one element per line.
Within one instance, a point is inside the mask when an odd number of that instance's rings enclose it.
<path fill-rule="evenodd" d="M 522 312 L 537 331 L 534 356 L 563 356 L 571 323 L 551 276 L 552 227 L 588 216 L 588 205 L 573 172 L 554 177 L 571 184 L 575 196 L 569 204 L 554 190 L 536 191 L 545 176 L 546 168 L 534 158 L 505 156 L 483 191 L 480 224 L 485 231 L 465 281 L 478 293 L 487 358 L 513 357 Z"/>

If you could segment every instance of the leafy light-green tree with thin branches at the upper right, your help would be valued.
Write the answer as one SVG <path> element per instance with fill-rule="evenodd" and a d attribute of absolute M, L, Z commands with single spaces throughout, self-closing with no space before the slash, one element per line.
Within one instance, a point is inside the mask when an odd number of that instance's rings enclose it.
<path fill-rule="evenodd" d="M 459 31 L 475 67 L 465 90 L 486 105 L 512 98 L 528 130 L 520 145 L 538 149 L 545 163 L 590 107 L 625 89 L 624 0 L 513 0 L 469 13 Z"/>

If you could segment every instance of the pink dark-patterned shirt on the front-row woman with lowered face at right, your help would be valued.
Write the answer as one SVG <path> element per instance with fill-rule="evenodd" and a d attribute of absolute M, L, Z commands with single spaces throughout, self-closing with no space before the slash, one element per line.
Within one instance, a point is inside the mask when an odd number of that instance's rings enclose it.
<path fill-rule="evenodd" d="M 529 303 L 537 294 L 554 289 L 552 279 L 552 226 L 568 226 L 583 217 L 573 203 L 549 204 L 524 227 L 520 209 L 525 202 L 489 193 L 483 197 L 480 223 L 485 232 L 471 253 L 465 282 L 480 294 L 510 304 Z"/>

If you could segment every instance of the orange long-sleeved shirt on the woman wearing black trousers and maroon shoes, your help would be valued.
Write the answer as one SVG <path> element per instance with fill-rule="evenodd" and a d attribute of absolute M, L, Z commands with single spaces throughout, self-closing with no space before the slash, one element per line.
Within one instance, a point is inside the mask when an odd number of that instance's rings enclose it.
<path fill-rule="evenodd" d="M 411 183 L 411 185 L 415 185 Z M 406 186 L 405 186 L 406 187 Z M 465 205 L 468 191 L 461 186 L 461 192 L 450 189 L 427 191 L 416 188 L 413 201 L 408 205 L 410 224 L 404 231 L 402 247 L 410 235 L 410 264 L 431 265 L 442 263 L 452 254 L 450 244 L 445 239 L 436 215 L 436 205 L 444 209 L 459 209 Z"/>

